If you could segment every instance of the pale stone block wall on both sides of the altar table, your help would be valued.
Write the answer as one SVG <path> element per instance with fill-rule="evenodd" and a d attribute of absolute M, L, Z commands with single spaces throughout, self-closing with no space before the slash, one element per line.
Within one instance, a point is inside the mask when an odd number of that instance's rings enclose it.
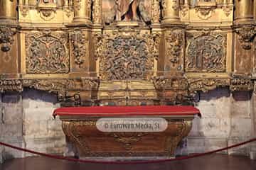
<path fill-rule="evenodd" d="M 216 89 L 198 95 L 197 108 L 202 118 L 193 120 L 193 128 L 183 140 L 177 154 L 206 152 L 233 145 L 255 135 L 256 97 L 251 92 L 230 93 Z M 22 94 L 6 93 L 0 96 L 0 140 L 11 145 L 50 154 L 63 154 L 65 135 L 61 122 L 52 113 L 60 107 L 53 94 L 25 90 Z M 256 153 L 255 145 L 228 150 L 228 154 Z M 31 154 L 0 146 L 0 162 L 12 157 Z"/>

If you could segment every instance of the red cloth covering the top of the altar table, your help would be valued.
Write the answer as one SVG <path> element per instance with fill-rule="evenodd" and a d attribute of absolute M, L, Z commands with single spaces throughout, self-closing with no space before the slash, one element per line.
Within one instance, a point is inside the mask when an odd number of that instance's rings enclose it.
<path fill-rule="evenodd" d="M 193 106 L 92 106 L 57 108 L 56 115 L 79 116 L 157 116 L 157 115 L 200 115 L 200 111 Z"/>

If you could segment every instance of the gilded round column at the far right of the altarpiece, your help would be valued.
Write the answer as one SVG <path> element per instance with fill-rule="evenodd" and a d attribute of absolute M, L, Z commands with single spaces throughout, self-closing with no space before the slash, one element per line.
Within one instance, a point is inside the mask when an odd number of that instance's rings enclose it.
<path fill-rule="evenodd" d="M 248 23 L 253 21 L 253 1 L 235 0 L 235 23 Z"/>

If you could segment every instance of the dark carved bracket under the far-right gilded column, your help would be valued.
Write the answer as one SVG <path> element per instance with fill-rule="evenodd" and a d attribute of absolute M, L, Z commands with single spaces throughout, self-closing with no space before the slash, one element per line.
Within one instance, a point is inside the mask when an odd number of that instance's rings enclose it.
<path fill-rule="evenodd" d="M 238 33 L 238 40 L 242 45 L 242 48 L 245 50 L 250 50 L 256 35 L 256 27 L 242 26 L 242 28 L 237 28 L 235 32 Z"/>

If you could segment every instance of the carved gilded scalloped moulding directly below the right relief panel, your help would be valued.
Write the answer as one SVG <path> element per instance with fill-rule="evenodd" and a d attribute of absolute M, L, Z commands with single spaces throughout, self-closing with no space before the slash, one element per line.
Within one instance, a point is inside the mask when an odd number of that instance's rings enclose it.
<path fill-rule="evenodd" d="M 188 79 L 188 91 L 196 94 L 196 91 L 207 92 L 218 86 L 229 86 L 229 79 Z"/>

